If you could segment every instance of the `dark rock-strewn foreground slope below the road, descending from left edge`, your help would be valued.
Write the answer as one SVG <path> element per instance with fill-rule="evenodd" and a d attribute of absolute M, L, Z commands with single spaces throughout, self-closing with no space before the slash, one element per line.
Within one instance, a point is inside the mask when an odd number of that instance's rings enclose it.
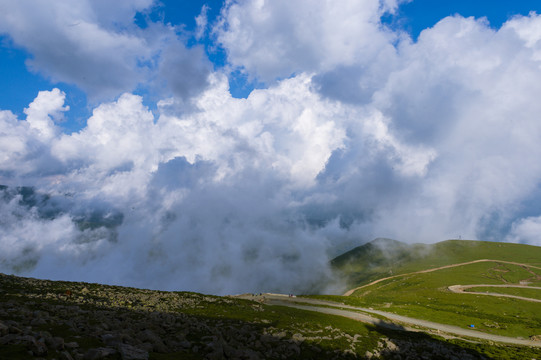
<path fill-rule="evenodd" d="M 254 301 L 0 274 L 0 359 L 295 358 L 485 357 Z"/>

